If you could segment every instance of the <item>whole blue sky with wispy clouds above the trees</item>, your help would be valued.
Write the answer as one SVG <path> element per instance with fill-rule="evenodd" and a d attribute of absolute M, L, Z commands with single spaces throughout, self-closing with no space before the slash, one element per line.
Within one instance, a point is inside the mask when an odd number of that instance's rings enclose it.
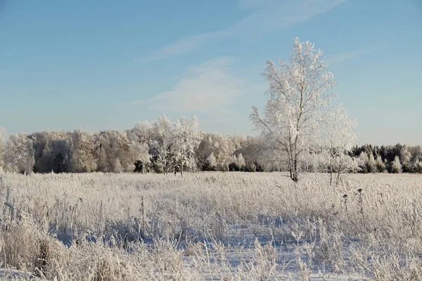
<path fill-rule="evenodd" d="M 0 0 L 0 125 L 127 129 L 196 113 L 255 135 L 267 59 L 321 48 L 359 144 L 422 144 L 422 1 Z"/>

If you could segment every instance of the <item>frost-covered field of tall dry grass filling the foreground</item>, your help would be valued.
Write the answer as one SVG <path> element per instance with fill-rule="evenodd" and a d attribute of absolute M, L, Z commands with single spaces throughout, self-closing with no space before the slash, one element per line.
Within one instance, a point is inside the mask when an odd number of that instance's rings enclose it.
<path fill-rule="evenodd" d="M 327 182 L 4 175 L 0 264 L 46 280 L 422 280 L 422 176 Z"/>

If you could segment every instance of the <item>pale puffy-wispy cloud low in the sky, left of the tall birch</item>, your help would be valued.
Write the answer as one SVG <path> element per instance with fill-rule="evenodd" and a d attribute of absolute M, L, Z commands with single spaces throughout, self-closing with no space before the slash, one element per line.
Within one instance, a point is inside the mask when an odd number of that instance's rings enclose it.
<path fill-rule="evenodd" d="M 155 111 L 177 113 L 209 113 L 227 111 L 244 89 L 243 80 L 236 78 L 229 69 L 233 60 L 214 58 L 186 72 L 170 90 L 149 99 L 134 101 Z"/>

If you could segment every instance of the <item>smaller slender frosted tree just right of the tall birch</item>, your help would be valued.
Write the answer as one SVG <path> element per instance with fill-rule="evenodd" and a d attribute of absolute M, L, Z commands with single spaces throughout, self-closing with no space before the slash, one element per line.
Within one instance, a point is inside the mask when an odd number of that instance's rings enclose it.
<path fill-rule="evenodd" d="M 356 159 L 350 159 L 350 150 L 357 139 L 353 129 L 357 122 L 347 115 L 343 104 L 331 108 L 324 116 L 322 123 L 322 144 L 328 156 L 328 172 L 330 184 L 338 184 L 341 175 L 357 170 Z M 333 173 L 336 173 L 335 179 Z"/>

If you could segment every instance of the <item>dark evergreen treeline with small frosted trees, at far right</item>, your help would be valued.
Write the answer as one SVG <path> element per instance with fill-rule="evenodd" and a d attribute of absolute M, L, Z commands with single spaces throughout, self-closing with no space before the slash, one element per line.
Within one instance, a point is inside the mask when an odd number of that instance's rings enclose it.
<path fill-rule="evenodd" d="M 354 146 L 361 173 L 422 173 L 422 146 Z"/>

